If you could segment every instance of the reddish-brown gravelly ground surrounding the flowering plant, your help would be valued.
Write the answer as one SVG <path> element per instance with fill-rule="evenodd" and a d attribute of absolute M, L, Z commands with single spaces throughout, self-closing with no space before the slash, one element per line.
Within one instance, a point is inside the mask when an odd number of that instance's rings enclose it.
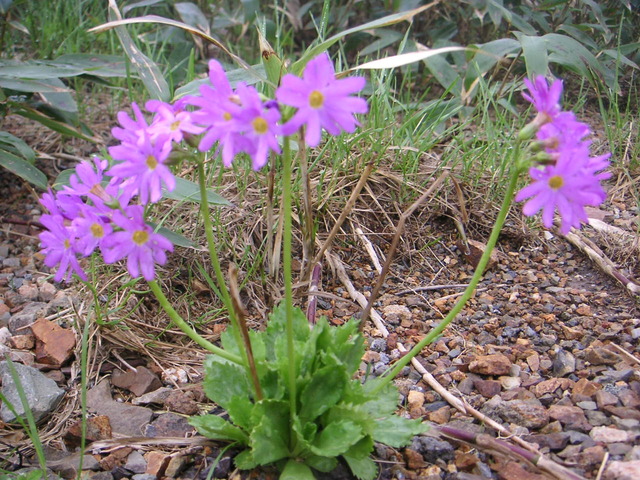
<path fill-rule="evenodd" d="M 60 145 L 56 142 L 48 145 L 52 144 Z M 37 137 L 32 145 L 40 151 L 45 149 Z M 51 163 L 46 167 L 52 178 L 56 174 L 53 166 Z M 390 180 L 393 175 L 385 174 L 384 167 L 380 170 L 372 176 L 372 189 L 362 194 L 332 249 L 334 262 L 345 266 L 355 290 L 365 295 L 375 284 L 377 273 L 373 256 L 365 250 L 362 236 L 355 234 L 355 228 L 362 228 L 382 263 L 398 212 L 408 206 L 394 201 L 387 188 L 388 182 L 393 184 Z M 611 190 L 614 185 L 619 184 L 611 181 Z M 337 197 L 346 198 L 349 188 L 352 185 L 345 186 L 347 193 Z M 395 184 L 393 188 L 400 187 Z M 74 312 L 65 310 L 63 302 L 74 305 L 76 312 L 87 314 L 89 292 L 52 284 L 42 256 L 37 253 L 40 231 L 37 221 L 41 211 L 35 192 L 4 170 L 0 170 L 0 191 L 3 324 L 9 325 L 12 317 L 33 302 L 58 302 L 57 310 L 53 309 L 47 319 L 73 330 Z M 580 235 L 595 241 L 614 259 L 619 277 L 633 279 L 638 273 L 637 212 L 631 208 L 633 199 L 627 198 L 625 191 L 615 192 L 599 217 L 623 229 L 632 241 L 621 243 L 619 238 L 597 233 L 591 227 L 585 227 Z M 471 278 L 474 255 L 464 254 L 465 247 L 451 220 L 457 209 L 446 201 L 455 197 L 453 187 L 444 187 L 441 195 L 444 201 L 425 205 L 407 222 L 381 297 L 374 305 L 388 335 L 380 325 L 369 322 L 365 327 L 369 346 L 362 366 L 373 375 L 384 371 L 401 355 L 399 343 L 410 348 L 435 326 Z M 470 192 L 466 198 L 471 199 L 466 233 L 475 248 L 481 249 L 495 216 L 495 206 Z M 333 211 L 342 208 L 330 207 Z M 325 221 L 330 228 L 331 217 L 327 216 Z M 319 238 L 326 238 L 326 234 L 321 231 Z M 193 261 L 193 255 L 193 251 L 178 252 L 171 268 L 188 270 L 185 265 Z M 120 273 L 113 271 L 101 275 L 103 280 L 117 285 L 126 282 Z M 196 291 L 185 300 L 187 304 L 193 302 L 193 319 L 197 320 L 200 312 L 211 311 L 213 307 L 202 279 L 196 275 L 180 281 L 176 278 L 166 282 L 174 297 L 182 298 L 180 294 L 188 286 Z M 273 301 L 273 289 L 249 286 L 246 290 L 247 299 L 255 300 L 250 308 L 250 323 L 259 328 L 265 306 Z M 102 420 L 95 420 L 100 418 L 96 408 L 98 414 L 92 414 L 91 418 L 103 435 L 98 435 L 98 443 L 89 448 L 93 460 L 85 461 L 91 470 L 87 469 L 83 478 L 205 479 L 211 468 L 215 469 L 213 478 L 277 478 L 269 470 L 237 472 L 232 462 L 237 452 L 226 450 L 223 445 L 199 444 L 194 440 L 198 437 L 185 425 L 184 415 L 214 408 L 198 388 L 202 352 L 168 329 L 153 301 L 136 295 L 122 298 L 124 293 L 117 289 L 105 291 L 109 293 L 99 295 L 103 305 L 112 308 L 111 302 L 126 310 L 126 315 L 116 312 L 106 320 L 121 320 L 129 314 L 130 319 L 116 325 L 92 326 L 90 394 L 98 395 L 98 385 L 106 381 L 107 393 L 101 394 L 113 396 L 114 403 L 143 405 L 139 408 L 149 411 L 151 426 L 136 435 L 145 436 L 146 440 L 109 439 L 110 434 L 117 437 L 113 435 L 113 425 L 102 428 Z M 361 307 L 351 298 L 349 285 L 326 263 L 321 291 L 330 295 L 318 298 L 318 314 L 326 315 L 335 324 L 359 315 Z M 205 298 L 197 292 L 204 292 Z M 304 300 L 299 299 L 302 304 Z M 130 307 L 136 307 L 135 311 L 129 311 Z M 223 320 L 200 327 L 215 339 L 224 328 Z M 28 328 L 20 334 L 28 335 Z M 80 332 L 75 334 L 79 339 Z M 431 422 L 433 428 L 428 436 L 417 437 L 405 449 L 377 446 L 375 458 L 380 465 L 380 478 L 569 478 L 562 474 L 554 476 L 550 473 L 553 468 L 541 467 L 540 463 L 536 467 L 513 450 L 496 447 L 481 434 L 491 439 L 501 437 L 512 446 L 522 446 L 524 441 L 556 467 L 566 467 L 579 475 L 576 478 L 635 478 L 616 472 L 624 466 L 638 468 L 640 461 L 639 338 L 637 297 L 629 287 L 603 271 L 565 237 L 523 223 L 514 208 L 499 240 L 495 263 L 485 273 L 476 296 L 443 336 L 419 356 L 418 361 L 428 374 L 410 367 L 397 381 L 401 393 L 399 412 Z M 46 371 L 66 391 L 63 402 L 40 428 L 51 467 L 69 478 L 73 471 L 69 473 L 69 469 L 60 465 L 68 467 L 73 463 L 73 457 L 69 456 L 77 448 L 73 429 L 80 418 L 80 347 L 76 346 L 70 363 L 52 368 L 36 361 L 33 346 L 22 344 L 22 348 L 17 348 L 16 341 L 8 342 L 14 361 Z M 172 400 L 141 403 L 139 397 L 146 389 L 142 380 L 134 379 L 133 385 L 115 381 L 118 370 L 140 372 L 141 366 L 148 367 L 145 370 L 158 380 L 157 383 L 149 380 L 153 390 L 168 387 Z M 429 375 L 442 387 L 439 391 L 434 390 Z M 133 387 L 142 390 L 134 394 Z M 447 394 L 464 400 L 481 415 L 460 411 L 456 408 L 459 403 L 453 403 Z M 102 402 L 108 403 L 108 399 Z M 497 426 L 489 425 L 487 417 Z M 126 415 L 124 419 L 134 421 Z M 114 418 L 109 421 L 114 423 Z M 20 471 L 33 461 L 29 441 L 20 429 L 3 427 L 0 450 L 6 462 L 4 468 Z M 466 441 L 454 439 L 451 432 L 455 431 L 467 432 L 471 437 Z M 513 437 L 505 438 L 505 432 Z M 162 444 L 159 439 L 163 437 L 187 440 L 184 444 Z M 515 442 L 515 437 L 521 441 Z M 57 458 L 62 461 L 56 463 Z M 144 477 L 145 474 L 150 476 Z M 346 467 L 340 466 L 319 478 L 351 476 Z"/>

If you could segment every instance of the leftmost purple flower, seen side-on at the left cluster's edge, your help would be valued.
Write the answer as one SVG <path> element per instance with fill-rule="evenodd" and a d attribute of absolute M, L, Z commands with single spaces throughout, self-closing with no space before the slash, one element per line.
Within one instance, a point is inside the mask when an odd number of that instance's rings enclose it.
<path fill-rule="evenodd" d="M 87 274 L 78 263 L 74 229 L 67 227 L 60 215 L 44 214 L 40 217 L 40 222 L 47 228 L 40 234 L 44 264 L 49 268 L 58 267 L 53 279 L 56 282 L 63 279 L 69 282 L 76 273 L 82 280 L 87 280 Z"/>

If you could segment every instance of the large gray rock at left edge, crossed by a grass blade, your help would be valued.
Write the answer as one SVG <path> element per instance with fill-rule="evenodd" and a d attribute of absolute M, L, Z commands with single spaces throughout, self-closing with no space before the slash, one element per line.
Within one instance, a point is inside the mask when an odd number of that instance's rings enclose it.
<path fill-rule="evenodd" d="M 27 398 L 27 405 L 37 422 L 46 417 L 58 405 L 64 395 L 64 390 L 60 389 L 55 381 L 45 377 L 35 368 L 19 363 L 14 363 L 13 366 L 16 369 L 17 380 Z M 0 375 L 2 376 L 3 395 L 11 403 L 16 413 L 23 416 L 25 409 L 20 401 L 18 389 L 7 362 L 0 362 Z M 6 423 L 16 421 L 16 416 L 5 403 L 0 408 L 0 417 Z"/>

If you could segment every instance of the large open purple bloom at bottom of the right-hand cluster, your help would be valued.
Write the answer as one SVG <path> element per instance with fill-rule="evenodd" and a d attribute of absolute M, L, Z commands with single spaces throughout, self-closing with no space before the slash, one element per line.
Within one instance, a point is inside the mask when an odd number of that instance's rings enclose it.
<path fill-rule="evenodd" d="M 526 216 L 542 210 L 542 223 L 546 228 L 553 225 L 556 210 L 563 234 L 572 227 L 580 228 L 581 222 L 587 221 L 584 207 L 597 206 L 606 198 L 600 181 L 609 174 L 598 171 L 608 166 L 607 158 L 608 155 L 590 158 L 586 148 L 560 151 L 555 164 L 529 170 L 533 181 L 520 190 L 515 199 L 518 202 L 529 199 L 522 209 Z"/>

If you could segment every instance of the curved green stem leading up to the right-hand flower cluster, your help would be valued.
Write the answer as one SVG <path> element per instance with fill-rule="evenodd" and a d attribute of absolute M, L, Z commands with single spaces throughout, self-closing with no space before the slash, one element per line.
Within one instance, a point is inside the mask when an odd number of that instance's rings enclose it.
<path fill-rule="evenodd" d="M 520 177 L 520 173 L 523 168 L 520 164 L 520 144 L 516 144 L 516 149 L 514 152 L 515 161 L 513 164 L 513 168 L 511 170 L 511 176 L 509 178 L 509 185 L 507 186 L 507 191 L 505 193 L 504 200 L 502 202 L 502 207 L 500 208 L 500 212 L 498 213 L 498 218 L 496 219 L 496 223 L 491 230 L 491 235 L 489 236 L 489 240 L 487 241 L 487 246 L 478 262 L 478 266 L 476 267 L 475 272 L 473 272 L 473 277 L 471 277 L 471 281 L 469 282 L 469 286 L 465 289 L 462 297 L 458 300 L 458 303 L 451 309 L 449 314 L 433 329 L 429 332 L 429 334 L 424 337 L 420 342 L 418 342 L 406 355 L 404 355 L 393 368 L 387 370 L 384 373 L 384 376 L 381 378 L 381 381 L 373 388 L 372 393 L 380 392 L 389 382 L 391 382 L 400 371 L 409 364 L 409 362 L 418 355 L 422 349 L 436 340 L 440 334 L 444 331 L 445 328 L 449 326 L 449 324 L 453 321 L 453 319 L 460 313 L 460 311 L 464 308 L 466 303 L 473 297 L 476 287 L 484 274 L 485 268 L 489 263 L 489 259 L 491 257 L 491 252 L 493 251 L 493 247 L 495 247 L 496 242 L 498 241 L 498 236 L 500 235 L 500 231 L 502 230 L 502 226 L 507 218 L 507 214 L 509 213 L 509 208 L 511 207 L 511 202 L 513 200 L 513 194 L 518 185 L 518 178 Z"/>

